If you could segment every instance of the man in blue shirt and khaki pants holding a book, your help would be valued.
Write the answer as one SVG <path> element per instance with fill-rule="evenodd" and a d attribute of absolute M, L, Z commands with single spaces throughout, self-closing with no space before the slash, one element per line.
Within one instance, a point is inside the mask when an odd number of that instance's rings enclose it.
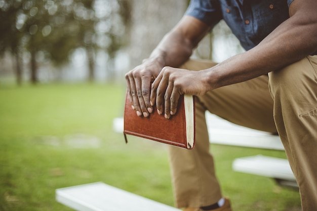
<path fill-rule="evenodd" d="M 209 110 L 236 124 L 278 132 L 300 188 L 302 208 L 316 209 L 316 11 L 315 0 L 192 0 L 150 57 L 126 74 L 138 116 L 158 112 L 169 119 L 177 112 L 181 94 L 197 95 L 195 148 L 169 149 L 178 207 L 231 210 L 208 151 L 204 114 Z M 190 60 L 193 48 L 221 19 L 246 52 L 217 65 Z"/>

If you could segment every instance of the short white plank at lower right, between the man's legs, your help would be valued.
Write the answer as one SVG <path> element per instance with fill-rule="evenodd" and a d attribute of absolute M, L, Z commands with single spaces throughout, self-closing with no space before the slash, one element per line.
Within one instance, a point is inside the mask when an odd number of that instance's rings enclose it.
<path fill-rule="evenodd" d="M 288 160 L 278 157 L 255 155 L 240 157 L 233 161 L 232 169 L 237 172 L 255 174 L 275 179 L 295 181 Z"/>

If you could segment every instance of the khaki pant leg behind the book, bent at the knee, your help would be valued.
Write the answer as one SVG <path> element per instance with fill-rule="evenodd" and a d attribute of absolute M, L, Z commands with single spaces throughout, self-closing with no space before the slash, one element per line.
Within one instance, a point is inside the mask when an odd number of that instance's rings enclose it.
<path fill-rule="evenodd" d="M 203 70 L 214 65 L 211 62 L 190 60 L 181 68 Z M 214 159 L 209 152 L 206 110 L 236 124 L 276 132 L 273 121 L 273 100 L 268 90 L 267 76 L 221 87 L 197 97 L 195 148 L 186 150 L 169 147 L 177 207 L 206 206 L 222 197 L 215 174 Z M 179 165 L 183 163 L 186 163 L 186 166 Z"/>

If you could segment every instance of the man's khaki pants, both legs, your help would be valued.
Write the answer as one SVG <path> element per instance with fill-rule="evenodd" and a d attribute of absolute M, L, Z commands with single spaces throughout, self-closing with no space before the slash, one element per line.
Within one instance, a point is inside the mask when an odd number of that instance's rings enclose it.
<path fill-rule="evenodd" d="M 214 65 L 189 60 L 181 68 L 203 70 Z M 195 148 L 169 147 L 176 205 L 206 206 L 222 197 L 209 152 L 205 121 L 208 110 L 249 128 L 271 133 L 276 133 L 277 128 L 300 188 L 303 210 L 314 210 L 317 207 L 316 72 L 317 56 L 310 56 L 269 76 L 217 88 L 197 97 Z M 186 165 L 180 165 L 183 163 Z"/>

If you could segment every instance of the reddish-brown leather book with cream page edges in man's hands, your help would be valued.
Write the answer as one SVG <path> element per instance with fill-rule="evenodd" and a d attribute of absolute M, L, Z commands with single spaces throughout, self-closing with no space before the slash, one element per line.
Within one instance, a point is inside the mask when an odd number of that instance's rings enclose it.
<path fill-rule="evenodd" d="M 132 109 L 128 95 L 126 96 L 124 114 L 124 134 L 139 136 L 186 149 L 195 144 L 195 105 L 194 96 L 181 95 L 177 112 L 170 119 L 159 115 L 156 107 L 149 117 L 138 117 Z"/>

